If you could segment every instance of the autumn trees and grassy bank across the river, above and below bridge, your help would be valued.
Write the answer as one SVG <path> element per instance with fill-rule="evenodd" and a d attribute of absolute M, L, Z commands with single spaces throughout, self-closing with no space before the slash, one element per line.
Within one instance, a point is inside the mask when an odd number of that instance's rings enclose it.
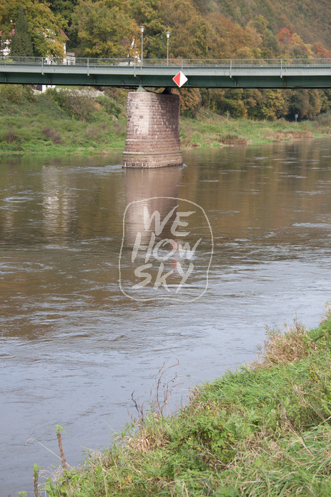
<path fill-rule="evenodd" d="M 144 59 L 331 58 L 325 0 L 0 0 L 0 6 L 0 55 L 137 59 L 143 50 Z M 330 89 L 182 89 L 180 98 L 184 148 L 330 132 Z M 0 153 L 122 151 L 125 106 L 121 89 L 90 99 L 81 89 L 36 96 L 0 85 Z"/>

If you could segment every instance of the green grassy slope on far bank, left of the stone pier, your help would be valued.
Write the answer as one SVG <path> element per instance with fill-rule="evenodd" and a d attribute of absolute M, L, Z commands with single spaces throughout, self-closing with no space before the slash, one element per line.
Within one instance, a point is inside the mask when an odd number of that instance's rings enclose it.
<path fill-rule="evenodd" d="M 0 89 L 1 90 L 1 89 Z M 57 97 L 57 95 L 55 95 Z M 3 156 L 107 154 L 124 148 L 124 106 L 112 114 L 114 99 L 102 104 L 60 93 L 35 96 L 26 89 L 0 91 L 0 153 Z"/>

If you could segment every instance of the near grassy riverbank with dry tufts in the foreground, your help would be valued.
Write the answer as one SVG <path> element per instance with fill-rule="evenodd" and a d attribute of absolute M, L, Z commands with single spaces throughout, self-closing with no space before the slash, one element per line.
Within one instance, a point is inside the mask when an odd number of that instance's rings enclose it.
<path fill-rule="evenodd" d="M 317 328 L 267 335 L 254 364 L 195 389 L 172 416 L 157 401 L 136 435 L 127 426 L 48 481 L 49 497 L 330 495 L 330 306 Z"/>

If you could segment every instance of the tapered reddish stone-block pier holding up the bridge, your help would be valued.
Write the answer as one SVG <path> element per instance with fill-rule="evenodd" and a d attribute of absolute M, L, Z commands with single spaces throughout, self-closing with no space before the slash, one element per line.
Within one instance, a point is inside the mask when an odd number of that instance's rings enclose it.
<path fill-rule="evenodd" d="M 123 167 L 182 165 L 179 95 L 130 91 Z"/>

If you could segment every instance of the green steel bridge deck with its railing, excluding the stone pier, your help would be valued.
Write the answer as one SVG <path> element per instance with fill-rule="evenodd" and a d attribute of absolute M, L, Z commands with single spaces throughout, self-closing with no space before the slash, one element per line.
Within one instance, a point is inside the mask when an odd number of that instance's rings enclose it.
<path fill-rule="evenodd" d="M 186 88 L 330 88 L 331 59 L 75 59 L 0 58 L 0 84 Z"/>

